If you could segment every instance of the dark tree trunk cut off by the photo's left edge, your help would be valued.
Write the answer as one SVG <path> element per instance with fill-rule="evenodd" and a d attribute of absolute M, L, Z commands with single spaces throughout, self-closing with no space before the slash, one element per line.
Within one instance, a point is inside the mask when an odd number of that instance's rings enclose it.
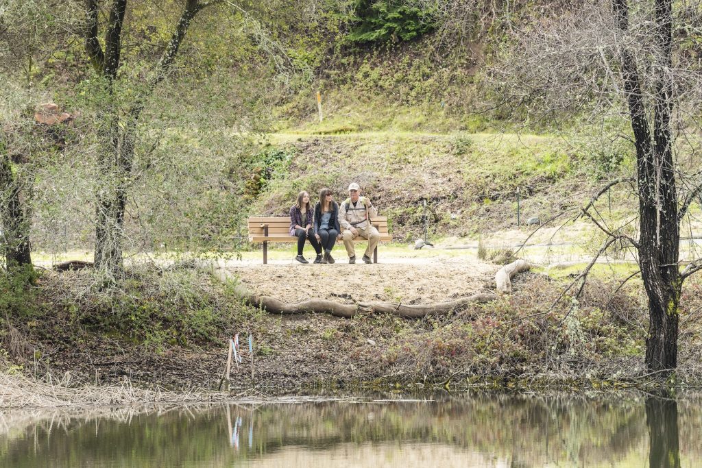
<path fill-rule="evenodd" d="M 12 173 L 10 156 L 0 135 L 0 221 L 4 228 L 5 260 L 8 269 L 32 265 L 29 221 L 22 209 L 20 184 Z"/>

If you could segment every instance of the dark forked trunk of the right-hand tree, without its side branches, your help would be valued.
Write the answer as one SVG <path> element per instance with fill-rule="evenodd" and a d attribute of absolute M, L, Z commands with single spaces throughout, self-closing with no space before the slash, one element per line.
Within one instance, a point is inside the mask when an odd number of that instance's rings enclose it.
<path fill-rule="evenodd" d="M 618 28 L 628 30 L 628 2 L 614 0 Z M 678 307 L 682 279 L 677 267 L 680 226 L 673 163 L 670 115 L 673 110 L 672 18 L 670 0 L 656 1 L 654 41 L 658 46 L 658 77 L 654 90 L 654 131 L 651 135 L 646 102 L 633 55 L 621 52 L 622 74 L 634 132 L 639 189 L 639 262 L 649 300 L 646 366 L 665 375 L 677 366 Z"/>

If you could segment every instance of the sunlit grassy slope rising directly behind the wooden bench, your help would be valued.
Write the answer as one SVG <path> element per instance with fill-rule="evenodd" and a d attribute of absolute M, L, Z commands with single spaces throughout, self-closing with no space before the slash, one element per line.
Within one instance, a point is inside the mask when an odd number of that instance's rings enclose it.
<path fill-rule="evenodd" d="M 581 156 L 549 136 L 314 131 L 270 135 L 273 145 L 294 156 L 253 212 L 282 215 L 303 189 L 314 194 L 331 187 L 343 199 L 356 181 L 388 215 L 399 240 L 422 231 L 425 209 L 430 234 L 476 236 L 516 227 L 517 188 L 524 221 L 578 205 L 593 187 Z"/>

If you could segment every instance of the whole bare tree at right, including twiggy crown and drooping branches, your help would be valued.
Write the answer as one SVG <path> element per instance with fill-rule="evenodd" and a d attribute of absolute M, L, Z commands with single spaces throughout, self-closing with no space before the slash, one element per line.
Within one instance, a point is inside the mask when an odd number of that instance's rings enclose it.
<path fill-rule="evenodd" d="M 668 375 L 677 367 L 682 284 L 702 269 L 701 260 L 680 255 L 681 222 L 702 192 L 698 168 L 680 157 L 695 154 L 691 141 L 702 135 L 696 117 L 702 55 L 689 40 L 702 24 L 699 7 L 671 0 L 575 0 L 552 10 L 530 8 L 521 18 L 519 24 L 506 20 L 507 44 L 498 48 L 486 77 L 503 107 L 528 123 L 602 118 L 630 128 L 617 129 L 616 138 L 633 147 L 635 173 L 614 176 L 578 217 L 604 232 L 598 256 L 617 246 L 635 252 L 648 299 L 645 365 L 651 375 Z M 621 225 L 596 207 L 618 184 L 630 185 L 637 205 L 637 219 Z M 594 261 L 574 282 L 581 283 L 574 299 Z"/>

